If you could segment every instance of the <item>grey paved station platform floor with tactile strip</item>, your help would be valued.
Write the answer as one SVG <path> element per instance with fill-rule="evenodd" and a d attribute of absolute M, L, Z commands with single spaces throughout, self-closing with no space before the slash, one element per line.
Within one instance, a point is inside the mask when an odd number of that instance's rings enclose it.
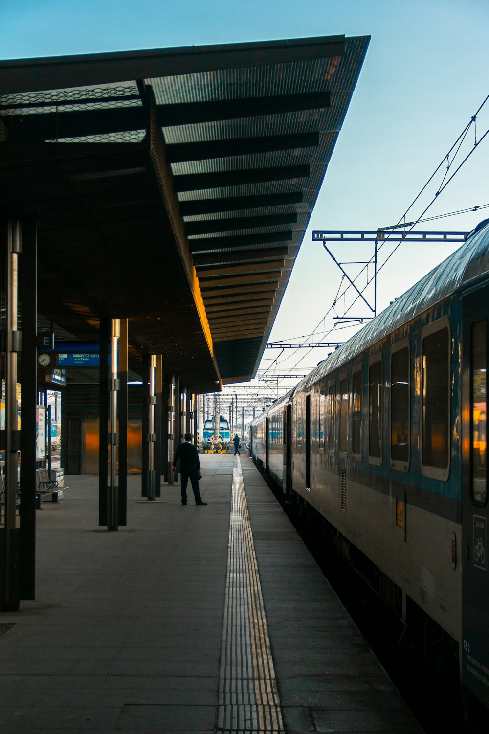
<path fill-rule="evenodd" d="M 37 512 L 37 600 L 0 614 L 2 734 L 419 734 L 249 457 L 201 464 L 207 506 L 130 476 L 108 532 L 98 477 L 69 476 Z"/>

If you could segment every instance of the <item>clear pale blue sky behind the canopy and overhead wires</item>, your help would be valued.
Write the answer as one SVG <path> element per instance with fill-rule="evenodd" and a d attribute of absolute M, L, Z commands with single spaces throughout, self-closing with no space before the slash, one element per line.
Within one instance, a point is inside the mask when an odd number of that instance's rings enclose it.
<path fill-rule="evenodd" d="M 371 40 L 269 341 L 318 341 L 334 324 L 331 304 L 346 282 L 322 244 L 312 241 L 312 230 L 396 224 L 489 94 L 489 0 L 0 0 L 0 59 L 331 34 Z M 446 178 L 488 128 L 489 101 Z M 488 159 L 489 134 L 425 216 L 489 204 Z M 446 163 L 406 221 L 422 214 L 445 174 Z M 469 231 L 486 217 L 489 208 L 416 229 Z M 379 252 L 378 312 L 459 246 L 403 243 L 382 267 L 394 249 L 386 244 Z M 331 250 L 342 262 L 373 255 L 369 245 L 334 244 Z M 345 270 L 353 278 L 360 267 Z M 364 277 L 358 285 L 365 286 Z M 365 297 L 372 302 L 372 286 Z M 337 315 L 352 301 L 350 288 L 338 299 Z M 357 302 L 348 313 L 369 311 Z M 358 328 L 335 328 L 328 338 L 345 341 Z M 272 365 L 279 352 L 267 349 L 260 371 L 306 374 L 329 351 L 284 352 Z M 277 392 L 276 382 L 265 392 Z M 279 392 L 294 384 L 278 382 Z"/>

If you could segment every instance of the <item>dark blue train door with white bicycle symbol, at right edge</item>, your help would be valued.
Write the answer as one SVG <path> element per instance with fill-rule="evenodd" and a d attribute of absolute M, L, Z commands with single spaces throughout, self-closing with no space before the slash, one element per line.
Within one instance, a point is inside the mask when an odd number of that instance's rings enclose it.
<path fill-rule="evenodd" d="M 489 705 L 489 288 L 463 305 L 462 680 Z"/>

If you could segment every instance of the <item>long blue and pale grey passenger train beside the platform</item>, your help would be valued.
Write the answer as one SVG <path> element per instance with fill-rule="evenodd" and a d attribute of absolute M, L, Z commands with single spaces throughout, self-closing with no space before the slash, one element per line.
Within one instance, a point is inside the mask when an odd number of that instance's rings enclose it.
<path fill-rule="evenodd" d="M 426 658 L 455 661 L 465 710 L 485 717 L 488 320 L 485 219 L 250 436 L 254 462 L 320 518 Z"/>

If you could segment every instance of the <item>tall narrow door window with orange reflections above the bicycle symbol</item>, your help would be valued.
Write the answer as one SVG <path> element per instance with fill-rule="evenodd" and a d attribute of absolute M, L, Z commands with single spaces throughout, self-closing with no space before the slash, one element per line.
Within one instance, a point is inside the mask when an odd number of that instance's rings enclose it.
<path fill-rule="evenodd" d="M 485 505 L 488 496 L 487 355 L 485 321 L 477 321 L 471 330 L 471 494 L 472 501 L 479 506 Z"/>

